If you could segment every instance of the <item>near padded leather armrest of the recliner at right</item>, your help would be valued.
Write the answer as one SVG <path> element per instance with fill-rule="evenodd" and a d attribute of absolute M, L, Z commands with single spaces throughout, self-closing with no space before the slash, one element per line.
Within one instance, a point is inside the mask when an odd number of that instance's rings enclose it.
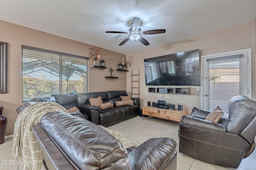
<path fill-rule="evenodd" d="M 219 123 L 214 123 L 212 121 L 207 121 L 204 119 L 199 119 L 199 118 L 191 117 L 188 115 L 183 115 L 180 118 L 180 125 L 181 124 L 190 126 L 190 127 L 199 128 L 199 129 L 205 129 L 209 131 L 226 132 L 226 127 Z"/>

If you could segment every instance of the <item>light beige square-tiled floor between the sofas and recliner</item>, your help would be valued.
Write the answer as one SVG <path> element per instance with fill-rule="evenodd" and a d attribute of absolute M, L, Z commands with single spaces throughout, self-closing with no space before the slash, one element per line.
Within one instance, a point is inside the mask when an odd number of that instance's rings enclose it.
<path fill-rule="evenodd" d="M 180 153 L 178 146 L 178 122 L 166 121 L 153 117 L 145 117 L 144 120 L 142 120 L 142 117 L 137 116 L 109 126 L 108 128 L 119 131 L 124 137 L 128 137 L 137 145 L 154 137 L 169 137 L 175 139 L 177 143 L 176 150 L 178 152 L 177 170 L 256 170 L 255 150 L 250 156 L 242 160 L 237 169 L 216 166 Z M 8 139 L 0 145 L 0 160 L 14 160 L 14 162 L 16 162 L 16 158 L 12 156 L 12 145 L 12 139 Z M 0 164 L 0 170 L 22 169 L 22 164 Z M 42 166 L 41 170 L 44 170 L 44 166 Z"/>

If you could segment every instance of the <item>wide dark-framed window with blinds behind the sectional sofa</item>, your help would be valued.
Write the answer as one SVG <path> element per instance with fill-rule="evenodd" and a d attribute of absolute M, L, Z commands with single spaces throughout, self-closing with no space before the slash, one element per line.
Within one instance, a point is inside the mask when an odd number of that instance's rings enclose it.
<path fill-rule="evenodd" d="M 88 57 L 22 45 L 22 100 L 88 92 Z"/>

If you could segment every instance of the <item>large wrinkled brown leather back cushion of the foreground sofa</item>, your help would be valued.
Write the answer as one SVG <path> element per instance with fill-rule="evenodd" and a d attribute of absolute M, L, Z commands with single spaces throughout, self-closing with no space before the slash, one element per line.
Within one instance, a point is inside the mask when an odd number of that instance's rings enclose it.
<path fill-rule="evenodd" d="M 90 121 L 52 112 L 40 125 L 80 169 L 130 169 L 124 145 Z"/>

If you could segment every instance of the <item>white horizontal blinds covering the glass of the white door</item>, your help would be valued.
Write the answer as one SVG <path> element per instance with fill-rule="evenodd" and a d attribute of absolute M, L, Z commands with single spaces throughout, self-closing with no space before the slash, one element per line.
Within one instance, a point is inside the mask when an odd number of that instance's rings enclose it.
<path fill-rule="evenodd" d="M 217 57 L 206 59 L 208 70 L 208 110 L 220 106 L 222 111 L 227 111 L 230 98 L 247 91 L 244 84 L 242 67 L 243 55 Z M 247 77 L 246 77 L 247 78 Z"/>

